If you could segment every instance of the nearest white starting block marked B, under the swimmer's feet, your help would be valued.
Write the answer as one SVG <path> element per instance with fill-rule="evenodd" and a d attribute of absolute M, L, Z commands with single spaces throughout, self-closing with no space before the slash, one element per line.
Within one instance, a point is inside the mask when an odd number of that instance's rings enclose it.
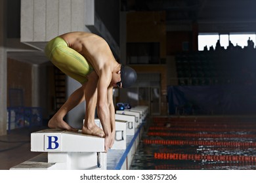
<path fill-rule="evenodd" d="M 84 135 L 81 131 L 60 129 L 37 131 L 31 134 L 31 151 L 45 152 L 47 158 L 44 161 L 33 158 L 11 169 L 106 170 L 104 139 Z"/>

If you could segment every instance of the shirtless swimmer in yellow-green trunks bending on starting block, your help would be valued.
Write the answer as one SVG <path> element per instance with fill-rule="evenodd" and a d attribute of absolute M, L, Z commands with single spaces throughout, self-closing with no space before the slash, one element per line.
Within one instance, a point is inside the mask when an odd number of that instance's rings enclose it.
<path fill-rule="evenodd" d="M 114 144 L 116 134 L 113 88 L 128 88 L 137 79 L 129 66 L 117 63 L 108 43 L 93 33 L 72 32 L 48 42 L 45 54 L 63 73 L 81 83 L 66 103 L 49 120 L 50 128 L 77 131 L 64 122 L 64 116 L 85 100 L 82 133 L 104 137 L 105 152 Z M 95 108 L 102 129 L 95 125 Z"/>

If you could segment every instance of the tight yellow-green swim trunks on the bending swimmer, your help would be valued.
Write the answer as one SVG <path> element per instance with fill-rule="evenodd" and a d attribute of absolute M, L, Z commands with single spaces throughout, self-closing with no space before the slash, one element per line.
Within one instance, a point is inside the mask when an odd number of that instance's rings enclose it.
<path fill-rule="evenodd" d="M 58 69 L 81 84 L 87 82 L 87 75 L 94 71 L 88 61 L 69 48 L 61 37 L 56 37 L 47 43 L 45 54 Z"/>

